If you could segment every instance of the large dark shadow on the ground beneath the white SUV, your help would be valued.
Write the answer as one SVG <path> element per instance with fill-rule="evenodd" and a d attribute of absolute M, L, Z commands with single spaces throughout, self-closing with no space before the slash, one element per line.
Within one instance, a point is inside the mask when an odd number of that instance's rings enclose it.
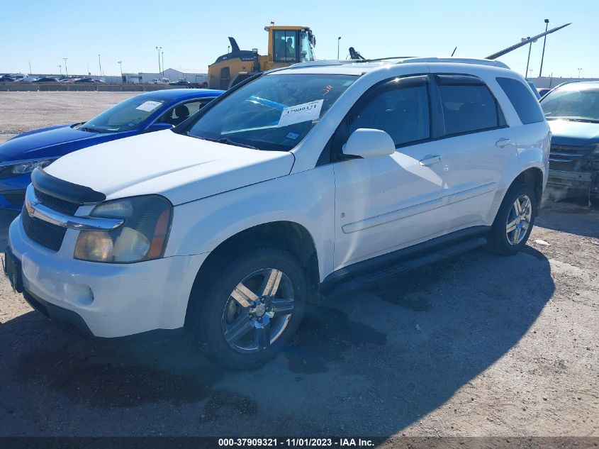
<path fill-rule="evenodd" d="M 533 248 L 469 253 L 310 307 L 251 372 L 191 338 L 106 345 L 32 311 L 0 326 L 0 435 L 391 436 L 504 357 L 553 292 Z"/>

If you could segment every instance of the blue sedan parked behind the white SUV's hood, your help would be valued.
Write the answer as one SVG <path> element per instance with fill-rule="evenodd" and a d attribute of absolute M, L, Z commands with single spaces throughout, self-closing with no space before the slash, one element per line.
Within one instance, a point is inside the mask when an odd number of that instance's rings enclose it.
<path fill-rule="evenodd" d="M 121 101 L 84 123 L 29 131 L 0 145 L 0 209 L 21 210 L 35 167 L 82 148 L 172 128 L 223 91 L 164 89 Z"/>

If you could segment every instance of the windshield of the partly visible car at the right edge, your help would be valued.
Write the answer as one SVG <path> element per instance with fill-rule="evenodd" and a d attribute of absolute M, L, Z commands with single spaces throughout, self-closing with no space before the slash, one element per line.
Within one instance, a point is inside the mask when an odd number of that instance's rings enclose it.
<path fill-rule="evenodd" d="M 547 120 L 563 118 L 599 123 L 599 87 L 584 89 L 576 84 L 555 89 L 541 101 Z"/>

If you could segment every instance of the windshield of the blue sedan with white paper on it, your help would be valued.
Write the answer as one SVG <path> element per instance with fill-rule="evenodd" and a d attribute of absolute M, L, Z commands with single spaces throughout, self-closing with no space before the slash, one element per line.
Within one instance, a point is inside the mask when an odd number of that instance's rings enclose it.
<path fill-rule="evenodd" d="M 147 96 L 143 98 L 133 96 L 83 123 L 79 129 L 96 133 L 130 131 L 137 128 L 163 103 L 164 100 L 148 99 Z"/>

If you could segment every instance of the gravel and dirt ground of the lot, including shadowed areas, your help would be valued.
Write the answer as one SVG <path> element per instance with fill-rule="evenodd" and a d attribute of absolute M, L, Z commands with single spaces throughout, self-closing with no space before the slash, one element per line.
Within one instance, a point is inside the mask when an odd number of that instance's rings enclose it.
<path fill-rule="evenodd" d="M 0 133 L 126 96 L 0 92 Z M 252 372 L 219 370 L 187 338 L 69 336 L 1 277 L 0 436 L 599 436 L 598 267 L 599 208 L 551 202 L 519 255 L 480 250 L 329 298 Z"/>

